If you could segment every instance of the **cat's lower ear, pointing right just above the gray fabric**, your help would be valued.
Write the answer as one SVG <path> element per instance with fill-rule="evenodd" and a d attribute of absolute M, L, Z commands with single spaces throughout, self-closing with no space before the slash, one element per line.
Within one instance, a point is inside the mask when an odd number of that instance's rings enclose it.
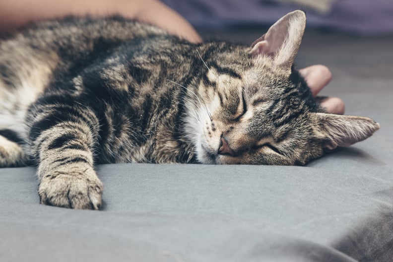
<path fill-rule="evenodd" d="M 315 113 L 317 117 L 316 136 L 324 141 L 323 146 L 334 149 L 362 141 L 380 129 L 370 118 Z"/>

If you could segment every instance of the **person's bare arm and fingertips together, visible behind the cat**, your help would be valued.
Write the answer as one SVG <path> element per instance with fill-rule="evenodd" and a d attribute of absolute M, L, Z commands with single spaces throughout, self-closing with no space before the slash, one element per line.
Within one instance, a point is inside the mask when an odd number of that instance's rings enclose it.
<path fill-rule="evenodd" d="M 31 21 L 66 15 L 105 16 L 121 14 L 125 17 L 157 25 L 171 34 L 193 43 L 202 42 L 196 30 L 177 12 L 158 0 L 3 0 L 0 2 L 0 36 Z M 331 80 L 326 66 L 314 65 L 300 70 L 313 95 Z M 319 99 L 327 112 L 344 114 L 344 102 L 337 97 Z"/>

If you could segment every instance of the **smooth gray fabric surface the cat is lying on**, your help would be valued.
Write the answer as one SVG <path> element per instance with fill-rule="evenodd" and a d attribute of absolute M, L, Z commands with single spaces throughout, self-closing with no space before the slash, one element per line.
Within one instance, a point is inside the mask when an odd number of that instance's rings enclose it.
<path fill-rule="evenodd" d="M 101 165 L 102 211 L 40 205 L 34 168 L 0 169 L 0 261 L 392 261 L 392 43 L 306 33 L 298 64 L 381 124 L 307 167 Z"/>

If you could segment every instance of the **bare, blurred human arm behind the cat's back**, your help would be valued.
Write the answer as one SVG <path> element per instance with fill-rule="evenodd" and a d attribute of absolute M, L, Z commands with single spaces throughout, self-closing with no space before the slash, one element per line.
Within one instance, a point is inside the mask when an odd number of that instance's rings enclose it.
<path fill-rule="evenodd" d="M 157 25 L 194 43 L 201 42 L 196 30 L 182 16 L 158 0 L 4 0 L 0 3 L 0 35 L 31 21 L 114 14 Z"/>

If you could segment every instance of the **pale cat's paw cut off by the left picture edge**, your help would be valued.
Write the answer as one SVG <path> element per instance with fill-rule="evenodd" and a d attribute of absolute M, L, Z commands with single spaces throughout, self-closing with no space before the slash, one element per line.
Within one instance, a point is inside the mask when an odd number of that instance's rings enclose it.
<path fill-rule="evenodd" d="M 21 145 L 0 134 L 0 167 L 19 167 L 27 162 Z"/>

